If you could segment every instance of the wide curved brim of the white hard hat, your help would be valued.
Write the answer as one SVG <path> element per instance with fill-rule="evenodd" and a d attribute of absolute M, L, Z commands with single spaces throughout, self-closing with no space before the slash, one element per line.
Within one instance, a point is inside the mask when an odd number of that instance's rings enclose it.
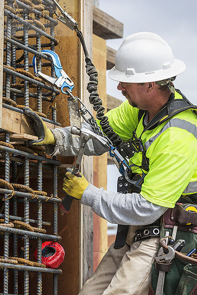
<path fill-rule="evenodd" d="M 146 83 L 156 82 L 177 76 L 186 69 L 185 63 L 180 59 L 174 59 L 174 63 L 168 69 L 161 69 L 151 73 L 135 73 L 126 75 L 126 73 L 116 70 L 114 66 L 108 73 L 110 79 L 125 83 Z"/>

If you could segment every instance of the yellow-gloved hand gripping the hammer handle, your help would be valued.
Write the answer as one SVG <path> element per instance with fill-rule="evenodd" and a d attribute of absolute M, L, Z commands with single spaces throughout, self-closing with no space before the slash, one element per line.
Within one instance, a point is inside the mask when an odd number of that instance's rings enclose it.
<path fill-rule="evenodd" d="M 89 182 L 81 173 L 80 176 L 81 177 L 77 177 L 70 172 L 66 172 L 63 183 L 63 190 L 65 193 L 78 200 L 81 200 L 83 192 L 89 185 Z"/>

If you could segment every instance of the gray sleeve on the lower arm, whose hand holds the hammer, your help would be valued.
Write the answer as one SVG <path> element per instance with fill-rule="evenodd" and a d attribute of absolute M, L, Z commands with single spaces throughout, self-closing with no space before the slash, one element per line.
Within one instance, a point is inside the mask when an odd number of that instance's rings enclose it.
<path fill-rule="evenodd" d="M 168 209 L 147 201 L 137 193 L 109 192 L 92 184 L 85 189 L 81 203 L 92 207 L 107 221 L 125 225 L 151 224 Z"/>

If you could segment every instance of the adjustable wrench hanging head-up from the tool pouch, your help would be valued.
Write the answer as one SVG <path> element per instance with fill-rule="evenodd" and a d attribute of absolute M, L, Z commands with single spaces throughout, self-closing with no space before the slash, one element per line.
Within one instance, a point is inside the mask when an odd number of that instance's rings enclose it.
<path fill-rule="evenodd" d="M 160 263 L 170 263 L 175 256 L 175 251 L 172 247 L 167 246 L 168 253 L 164 254 L 164 249 L 160 248 L 158 251 L 158 256 L 155 257 L 155 260 Z M 157 282 L 157 289 L 155 295 L 163 295 L 164 290 L 164 278 L 165 271 L 160 270 Z"/>

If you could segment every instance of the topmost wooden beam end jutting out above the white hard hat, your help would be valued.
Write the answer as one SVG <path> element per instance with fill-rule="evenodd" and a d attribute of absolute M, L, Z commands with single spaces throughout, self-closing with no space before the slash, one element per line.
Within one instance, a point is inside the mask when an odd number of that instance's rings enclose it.
<path fill-rule="evenodd" d="M 93 33 L 103 39 L 122 38 L 123 24 L 93 6 Z"/>

